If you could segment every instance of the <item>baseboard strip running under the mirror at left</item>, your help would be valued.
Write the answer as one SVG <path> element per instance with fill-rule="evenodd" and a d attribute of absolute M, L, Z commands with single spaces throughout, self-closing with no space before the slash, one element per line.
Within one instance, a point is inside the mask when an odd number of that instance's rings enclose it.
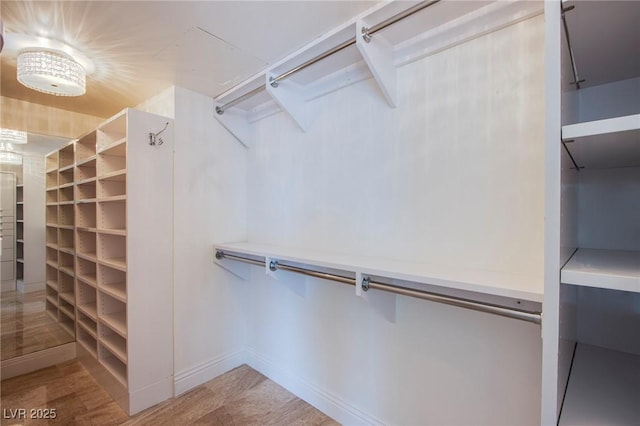
<path fill-rule="evenodd" d="M 75 357 L 75 342 L 67 343 L 2 361 L 2 363 L 0 363 L 2 365 L 0 376 L 2 376 L 3 380 L 10 379 L 11 377 L 21 376 L 31 373 L 32 371 L 72 360 Z"/>

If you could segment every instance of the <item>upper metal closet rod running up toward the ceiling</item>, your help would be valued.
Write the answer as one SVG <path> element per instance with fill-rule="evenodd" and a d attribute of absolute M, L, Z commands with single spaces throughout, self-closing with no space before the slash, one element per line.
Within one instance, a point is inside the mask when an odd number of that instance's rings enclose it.
<path fill-rule="evenodd" d="M 426 9 L 429 6 L 432 6 L 432 5 L 436 4 L 436 3 L 438 3 L 439 1 L 440 0 L 422 1 L 422 2 L 420 2 L 418 4 L 413 5 L 412 7 L 410 7 L 409 9 L 407 9 L 407 10 L 405 10 L 403 12 L 397 13 L 397 14 L 393 15 L 392 17 L 385 19 L 384 21 L 372 26 L 371 28 L 363 28 L 362 32 L 363 32 L 364 39 L 368 41 L 371 38 L 371 36 L 374 35 L 375 33 L 377 33 L 378 31 L 384 30 L 385 28 L 395 24 L 396 22 L 399 22 L 399 21 L 401 21 L 401 20 L 403 20 L 405 18 L 408 18 L 409 16 L 411 16 L 411 15 L 413 15 L 413 14 L 415 14 L 415 13 L 417 13 L 417 12 L 423 10 L 423 9 Z M 306 62 L 303 62 L 302 64 L 290 69 L 289 71 L 286 71 L 286 72 L 278 75 L 277 77 L 270 78 L 269 79 L 269 84 L 271 84 L 271 86 L 273 86 L 273 87 L 278 87 L 278 82 L 280 80 L 283 80 L 283 79 L 289 77 L 290 75 L 293 75 L 293 74 L 297 73 L 298 71 L 301 71 L 301 70 L 307 68 L 308 66 L 313 65 L 316 62 L 319 62 L 319 61 L 321 61 L 321 60 L 333 55 L 334 53 L 338 53 L 339 51 L 341 51 L 343 49 L 346 49 L 347 47 L 352 46 L 354 44 L 356 44 L 356 37 L 355 36 L 353 36 L 349 40 L 339 44 L 338 46 L 335 46 L 335 47 L 327 50 L 326 52 L 321 53 L 318 56 L 315 56 L 315 57 L 309 59 Z M 266 83 L 265 83 L 264 86 L 259 86 L 259 87 L 255 88 L 255 89 L 253 89 L 252 91 L 250 91 L 248 93 L 245 93 L 244 95 L 227 102 L 224 105 L 217 106 L 216 107 L 216 113 L 218 113 L 220 115 L 224 114 L 224 112 L 227 109 L 231 108 L 232 106 L 244 101 L 247 98 L 250 98 L 251 96 L 257 94 L 258 92 L 261 92 L 262 90 L 265 90 L 265 86 L 266 86 Z"/>

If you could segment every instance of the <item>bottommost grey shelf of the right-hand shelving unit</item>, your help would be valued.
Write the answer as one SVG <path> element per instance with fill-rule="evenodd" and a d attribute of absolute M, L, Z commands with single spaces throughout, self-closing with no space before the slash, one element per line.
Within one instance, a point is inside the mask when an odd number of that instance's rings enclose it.
<path fill-rule="evenodd" d="M 559 425 L 637 425 L 640 355 L 578 344 Z"/>

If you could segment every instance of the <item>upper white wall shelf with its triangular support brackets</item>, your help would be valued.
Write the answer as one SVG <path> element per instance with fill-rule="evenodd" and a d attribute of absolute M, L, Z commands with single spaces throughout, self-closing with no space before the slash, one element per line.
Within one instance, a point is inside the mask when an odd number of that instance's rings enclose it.
<path fill-rule="evenodd" d="M 216 119 L 240 143 L 253 145 L 252 123 L 284 111 L 306 131 L 312 123 L 311 101 L 345 86 L 373 78 L 390 108 L 397 106 L 396 69 L 449 47 L 524 21 L 543 12 L 538 2 L 438 2 L 365 41 L 370 28 L 404 12 L 408 2 L 384 2 L 326 33 L 214 100 L 214 109 L 247 95 Z M 354 43 L 286 79 L 270 79 L 354 39 Z M 260 88 L 264 87 L 264 90 Z M 251 95 L 250 95 L 251 94 Z"/>

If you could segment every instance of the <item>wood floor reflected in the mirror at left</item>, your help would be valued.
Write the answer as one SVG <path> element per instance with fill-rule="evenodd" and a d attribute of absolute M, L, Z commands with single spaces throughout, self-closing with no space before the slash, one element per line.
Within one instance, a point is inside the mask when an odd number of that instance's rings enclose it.
<path fill-rule="evenodd" d="M 0 359 L 73 342 L 74 337 L 45 312 L 45 291 L 5 291 L 0 306 Z"/>

